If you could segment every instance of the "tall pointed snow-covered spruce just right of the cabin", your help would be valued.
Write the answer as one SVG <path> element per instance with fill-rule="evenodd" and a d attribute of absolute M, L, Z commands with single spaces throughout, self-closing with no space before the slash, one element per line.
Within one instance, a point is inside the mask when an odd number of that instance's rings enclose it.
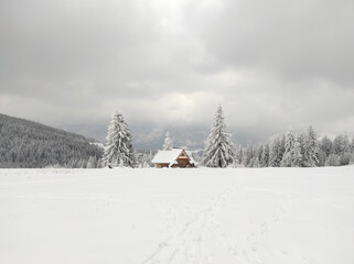
<path fill-rule="evenodd" d="M 202 161 L 205 166 L 227 167 L 233 164 L 235 153 L 230 136 L 226 131 L 223 109 L 218 107 L 203 153 Z"/>

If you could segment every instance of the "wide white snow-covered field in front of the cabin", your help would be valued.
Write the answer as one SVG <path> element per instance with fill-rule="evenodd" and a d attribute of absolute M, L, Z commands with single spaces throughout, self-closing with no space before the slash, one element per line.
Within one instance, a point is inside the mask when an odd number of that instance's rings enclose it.
<path fill-rule="evenodd" d="M 353 264 L 354 167 L 0 169 L 0 263 Z"/>

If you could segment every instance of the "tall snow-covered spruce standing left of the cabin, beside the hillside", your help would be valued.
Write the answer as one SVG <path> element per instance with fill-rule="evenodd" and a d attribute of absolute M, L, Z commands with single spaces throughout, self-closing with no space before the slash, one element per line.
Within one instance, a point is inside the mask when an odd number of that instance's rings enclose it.
<path fill-rule="evenodd" d="M 120 112 L 116 111 L 108 125 L 103 164 L 135 167 L 136 156 L 131 144 L 131 134 Z"/>

